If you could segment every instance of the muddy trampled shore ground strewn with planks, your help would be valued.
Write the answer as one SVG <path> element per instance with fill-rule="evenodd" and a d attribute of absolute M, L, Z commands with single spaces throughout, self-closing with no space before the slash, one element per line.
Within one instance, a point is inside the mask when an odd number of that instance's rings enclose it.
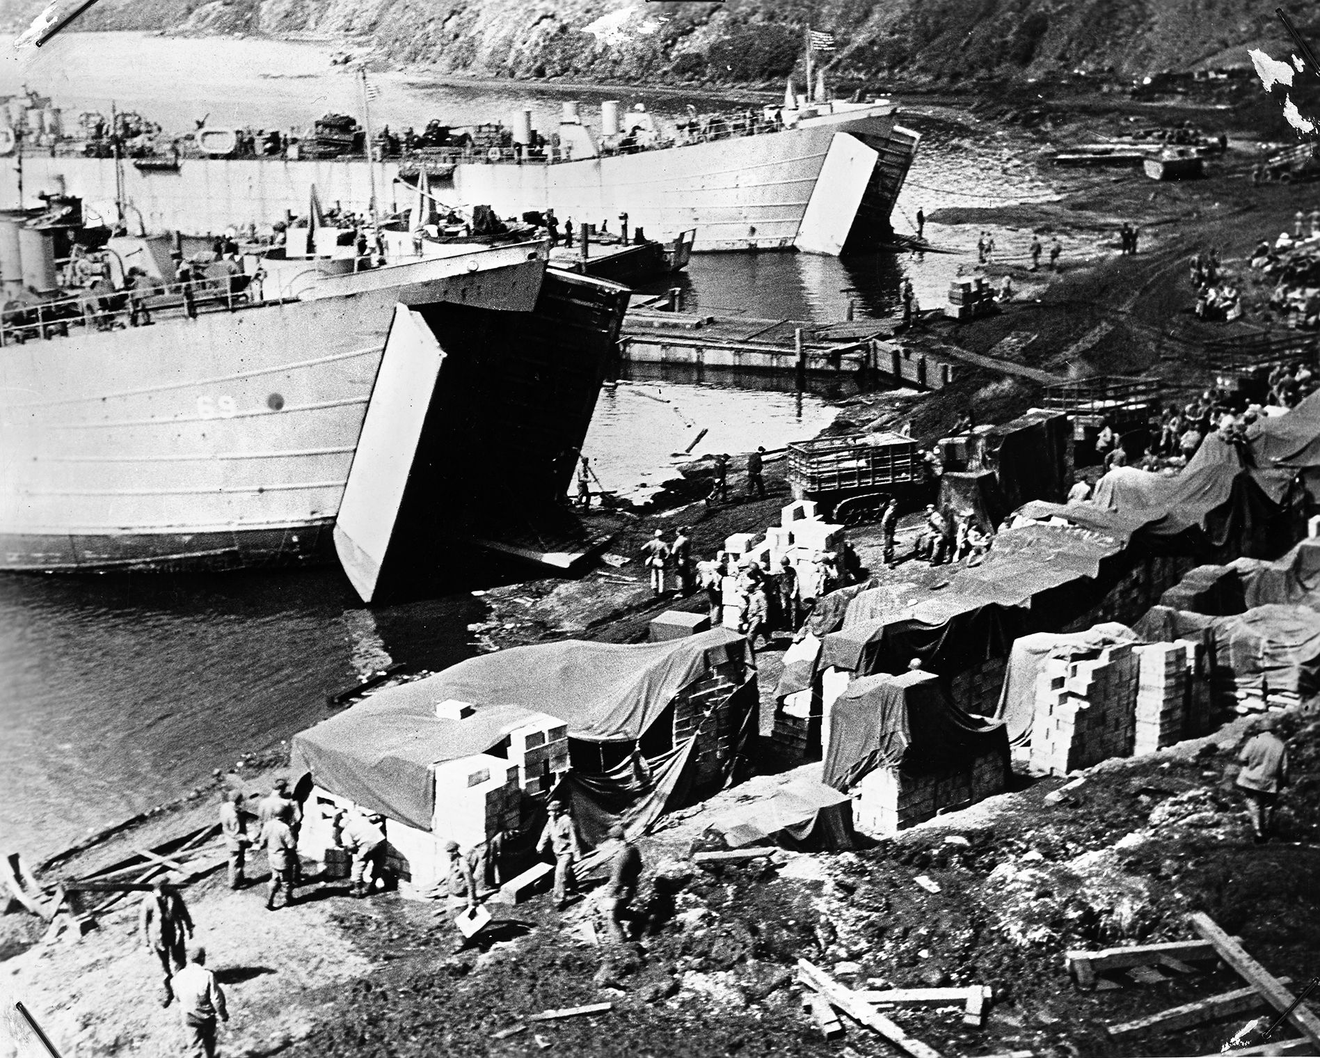
<path fill-rule="evenodd" d="M 1071 114 L 1060 106 L 1048 133 L 1022 139 L 1014 124 L 1014 165 L 1005 185 L 1011 185 L 1014 166 L 1043 165 L 1041 156 L 1060 144 L 1131 116 L 1130 104 L 1097 112 L 1093 103 Z M 941 112 L 965 129 L 961 135 L 997 131 L 993 116 Z M 1167 122 L 1188 120 L 1188 112 L 1142 111 Z M 1299 203 L 1309 209 L 1316 195 L 1250 184 L 1249 114 L 1199 115 L 1208 128 L 1222 119 L 1237 143 L 1203 181 L 1163 185 L 1139 172 L 1051 172 L 1061 190 L 1057 199 L 932 211 L 932 243 L 960 254 L 964 275 L 995 284 L 1011 276 L 1018 293 L 994 316 L 965 324 L 931 316 L 896 338 L 932 353 L 991 358 L 1005 369 L 964 363 L 957 380 L 939 394 L 850 398 L 840 403 L 830 429 L 911 424 L 913 436 L 929 444 L 968 412 L 977 421 L 999 423 L 1035 406 L 1041 372 L 1061 380 L 1154 372 L 1168 403 L 1210 384 L 1205 343 L 1259 329 L 1267 317 L 1249 308 L 1234 324 L 1197 320 L 1189 258 L 1213 247 L 1247 284 L 1251 248 L 1288 229 Z M 1028 140 L 1039 153 L 1023 145 Z M 987 195 L 998 190 L 987 189 Z M 1134 256 L 1118 252 L 1123 222 L 1142 232 Z M 995 232 L 989 263 L 975 260 L 982 230 Z M 1063 243 L 1057 272 L 1031 271 L 1034 235 Z M 730 534 L 776 522 L 789 501 L 783 460 L 767 464 L 764 501 L 741 499 L 742 465 L 735 458 L 730 478 L 735 502 L 706 506 L 701 497 L 711 466 L 697 461 L 647 506 L 627 511 L 627 526 L 610 546 L 630 559 L 620 567 L 603 565 L 578 580 L 484 589 L 486 614 L 471 629 L 474 637 L 487 650 L 561 638 L 638 642 L 661 610 L 697 610 L 696 598 L 652 597 L 638 549 L 655 528 L 682 524 L 692 527 L 693 549 L 704 557 Z M 902 523 L 900 552 L 916 522 L 909 515 Z M 880 580 L 902 575 L 903 565 L 884 572 L 874 527 L 850 540 L 862 565 Z M 775 686 L 784 645 L 759 655 L 763 699 Z M 799 958 L 837 973 L 846 967 L 857 987 L 871 979 L 883 987 L 990 985 L 983 1029 L 961 1026 L 948 1010 L 896 1014 L 909 1034 L 945 1054 L 1214 1053 L 1232 1033 L 1229 1022 L 1139 1042 L 1115 1041 L 1101 1025 L 1238 987 L 1232 972 L 1170 975 L 1158 984 L 1080 995 L 1063 952 L 1185 939 L 1187 911 L 1205 910 L 1275 973 L 1303 981 L 1320 972 L 1312 885 L 1320 866 L 1312 844 L 1320 823 L 1320 724 L 1300 712 L 1284 717 L 1295 786 L 1280 814 L 1279 840 L 1258 847 L 1228 767 L 1254 723 L 1242 719 L 1154 756 L 1088 769 L 1081 786 L 1053 802 L 1045 798 L 1063 781 L 1019 775 L 1007 794 L 854 852 L 780 851 L 768 863 L 694 869 L 688 853 L 709 814 L 791 774 L 767 766 L 766 774 L 704 808 L 667 818 L 642 841 L 651 877 L 647 926 L 628 948 L 593 942 L 583 929 L 593 919 L 590 898 L 564 914 L 546 896 L 499 909 L 496 927 L 480 943 L 458 948 L 449 921 L 428 903 L 393 893 L 355 902 L 343 882 L 327 881 L 309 885 L 292 909 L 268 914 L 260 886 L 231 893 L 215 873 L 186 898 L 230 992 L 234 1014 L 222 1032 L 222 1053 L 715 1055 L 838 1054 L 842 1046 L 857 1054 L 894 1053 L 853 1024 L 842 1041 L 822 1040 L 801 1010 L 793 975 Z M 66 866 L 90 870 L 158 835 L 214 818 L 220 790 L 235 781 L 234 763 L 216 761 L 214 786 Z M 261 789 L 281 765 L 277 750 L 257 754 L 238 781 Z M 807 765 L 807 774 L 813 767 L 820 765 Z M 919 874 L 940 892 L 915 884 Z M 9 955 L 0 963 L 0 984 L 42 1010 L 65 1054 L 174 1053 L 176 1013 L 154 1000 L 132 909 L 106 915 L 82 938 L 66 931 L 42 940 L 32 917 L 9 915 L 0 925 Z M 525 1021 L 540 1010 L 602 1001 L 614 1008 L 558 1022 Z M 496 1038 L 519 1025 L 528 1028 Z"/>

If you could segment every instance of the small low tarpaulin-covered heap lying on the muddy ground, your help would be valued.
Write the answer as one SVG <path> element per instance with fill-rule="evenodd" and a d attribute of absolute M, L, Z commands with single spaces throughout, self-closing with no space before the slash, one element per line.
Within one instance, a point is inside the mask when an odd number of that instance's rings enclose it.
<path fill-rule="evenodd" d="M 853 799 L 825 783 L 796 778 L 715 816 L 708 829 L 730 848 L 774 841 L 789 848 L 853 848 Z"/>

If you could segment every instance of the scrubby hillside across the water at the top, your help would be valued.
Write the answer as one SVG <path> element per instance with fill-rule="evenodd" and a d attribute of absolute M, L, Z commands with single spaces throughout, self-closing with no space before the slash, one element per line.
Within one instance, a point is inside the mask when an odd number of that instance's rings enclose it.
<path fill-rule="evenodd" d="M 8 9 L 8 11 L 7 11 Z M 0 3 L 0 16 L 40 9 Z M 958 82 L 1247 63 L 1284 49 L 1247 0 L 822 0 L 836 81 Z M 102 0 L 84 29 L 368 38 L 391 63 L 486 77 L 759 83 L 800 71 L 805 0 Z M 1313 9 L 1312 9 L 1313 11 Z M 1307 12 L 1295 12 L 1307 17 Z M 1320 36 L 1320 17 L 1303 32 Z"/>

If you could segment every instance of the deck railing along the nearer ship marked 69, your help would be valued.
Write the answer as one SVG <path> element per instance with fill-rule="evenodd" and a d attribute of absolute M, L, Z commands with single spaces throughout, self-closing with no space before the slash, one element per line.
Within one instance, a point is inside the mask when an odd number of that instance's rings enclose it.
<path fill-rule="evenodd" d="M 238 312 L 261 302 L 253 276 L 238 273 L 215 279 L 144 287 L 141 289 L 94 291 L 55 301 L 5 308 L 0 313 L 0 346 L 32 338 L 67 337 L 73 328 L 115 330 L 149 326 L 154 317 L 176 318 L 203 312 Z"/>

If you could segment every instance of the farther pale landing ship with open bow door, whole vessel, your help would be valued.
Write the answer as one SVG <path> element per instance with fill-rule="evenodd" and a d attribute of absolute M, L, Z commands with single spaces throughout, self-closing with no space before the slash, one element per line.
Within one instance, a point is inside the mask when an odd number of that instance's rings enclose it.
<path fill-rule="evenodd" d="M 228 145 L 220 139 L 214 147 Z M 437 197 L 459 209 L 488 203 L 499 217 L 553 210 L 561 221 L 595 225 L 615 225 L 627 213 L 652 239 L 696 230 L 697 252 L 840 254 L 890 238 L 890 211 L 920 137 L 898 124 L 887 99 L 792 95 L 783 106 L 681 124 L 607 102 L 599 133 L 566 103 L 549 136 L 533 132 L 524 111 L 508 139 L 510 147 L 465 140 L 380 161 L 289 149 L 277 157 L 183 157 L 168 173 L 123 166 L 116 173 L 108 157 L 24 152 L 0 172 L 0 203 L 21 205 L 20 188 L 28 202 L 40 190 L 58 190 L 103 217 L 116 215 L 115 203 L 123 202 L 129 223 L 140 221 L 147 231 L 215 232 L 298 214 L 313 186 L 322 201 L 358 213 L 368 210 L 375 188 L 380 211 L 393 213 L 426 170 Z"/>

